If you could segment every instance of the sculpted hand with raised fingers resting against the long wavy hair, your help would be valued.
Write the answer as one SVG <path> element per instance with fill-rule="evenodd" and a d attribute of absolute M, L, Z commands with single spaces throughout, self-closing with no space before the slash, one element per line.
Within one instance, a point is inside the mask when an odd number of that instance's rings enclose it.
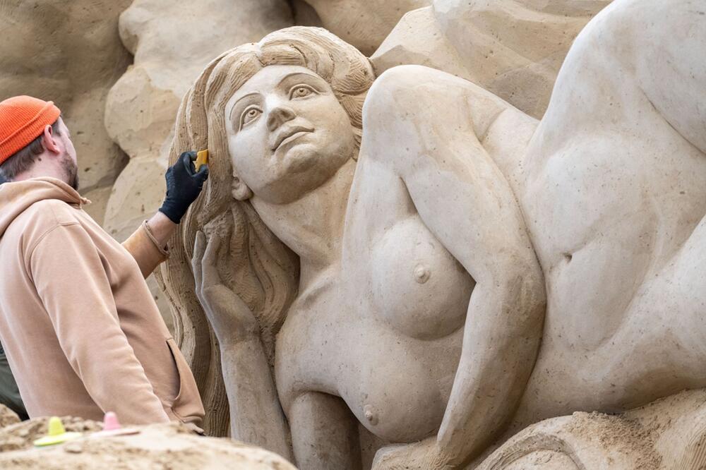
<path fill-rule="evenodd" d="M 196 296 L 201 302 L 220 344 L 236 344 L 258 337 L 258 322 L 246 303 L 223 284 L 218 273 L 218 261 L 227 249 L 221 236 L 212 234 L 208 241 L 203 232 L 196 233 L 191 267 L 196 284 Z"/>

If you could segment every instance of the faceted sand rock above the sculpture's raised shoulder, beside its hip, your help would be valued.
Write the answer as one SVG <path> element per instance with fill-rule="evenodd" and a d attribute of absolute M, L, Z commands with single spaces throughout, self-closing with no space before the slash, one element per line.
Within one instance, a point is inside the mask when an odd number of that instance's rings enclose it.
<path fill-rule="evenodd" d="M 434 0 L 407 13 L 371 57 L 376 72 L 401 64 L 465 78 L 536 118 L 580 30 L 611 0 Z"/>

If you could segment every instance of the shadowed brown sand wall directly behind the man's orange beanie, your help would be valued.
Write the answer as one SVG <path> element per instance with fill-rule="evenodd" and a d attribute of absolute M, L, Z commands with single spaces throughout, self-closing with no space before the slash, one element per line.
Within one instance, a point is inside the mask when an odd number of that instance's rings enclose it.
<path fill-rule="evenodd" d="M 117 30 L 131 0 L 0 1 L 0 100 L 35 95 L 63 112 L 79 155 L 80 189 L 102 222 L 112 184 L 126 164 L 105 131 L 108 90 L 130 64 Z"/>

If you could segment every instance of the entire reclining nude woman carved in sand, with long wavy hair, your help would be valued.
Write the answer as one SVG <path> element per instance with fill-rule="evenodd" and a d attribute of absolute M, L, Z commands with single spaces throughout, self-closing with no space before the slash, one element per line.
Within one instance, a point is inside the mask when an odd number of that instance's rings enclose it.
<path fill-rule="evenodd" d="M 373 76 L 335 37 L 291 28 L 214 61 L 177 122 L 172 153 L 208 146 L 213 168 L 166 280 L 189 320 L 196 279 L 232 434 L 289 456 L 279 402 L 302 469 L 357 468 L 356 422 L 409 443 L 376 468 L 459 468 L 508 426 L 706 385 L 704 29 L 638 28 L 693 22 L 685 3 L 606 8 L 541 123 L 394 68 L 359 152 Z"/>

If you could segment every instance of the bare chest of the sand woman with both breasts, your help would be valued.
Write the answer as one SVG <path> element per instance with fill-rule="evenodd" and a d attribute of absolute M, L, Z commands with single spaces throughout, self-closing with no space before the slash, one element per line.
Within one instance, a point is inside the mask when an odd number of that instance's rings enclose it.
<path fill-rule="evenodd" d="M 378 168 L 362 178 L 367 171 L 359 162 L 351 197 L 360 205 L 347 212 L 367 218 L 366 229 L 345 236 L 338 269 L 292 306 L 277 342 L 277 384 L 284 403 L 311 390 L 334 394 L 372 433 L 412 442 L 441 424 L 474 283 L 394 175 Z"/>

